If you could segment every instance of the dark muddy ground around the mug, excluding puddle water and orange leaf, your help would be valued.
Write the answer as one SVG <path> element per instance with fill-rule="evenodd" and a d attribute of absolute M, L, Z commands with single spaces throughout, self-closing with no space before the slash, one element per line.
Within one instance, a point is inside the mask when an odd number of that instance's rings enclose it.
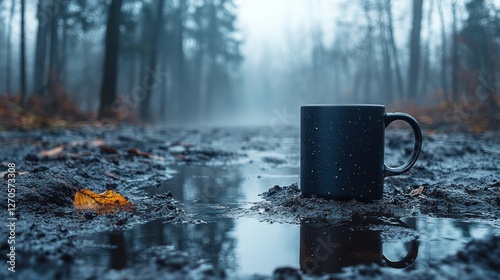
<path fill-rule="evenodd" d="M 224 269 L 173 247 L 148 248 L 147 258 L 120 270 L 102 270 L 75 262 L 74 237 L 123 231 L 162 217 L 167 223 L 199 223 L 170 193 L 147 195 L 168 176 L 166 166 L 220 165 L 248 162 L 252 151 L 274 152 L 267 168 L 298 165 L 298 129 L 223 128 L 156 129 L 85 126 L 73 129 L 0 132 L 2 223 L 7 223 L 9 163 L 15 163 L 15 273 L 7 270 L 9 228 L 0 236 L 2 279 L 223 279 Z M 412 134 L 387 133 L 386 160 L 402 163 L 412 149 Z M 54 148 L 63 150 L 55 153 Z M 52 153 L 50 152 L 52 151 Z M 45 155 L 44 155 L 45 152 Z M 47 155 L 48 152 L 48 155 Z M 292 154 L 292 156 L 287 156 Z M 422 153 L 408 173 L 386 179 L 384 197 L 374 203 L 305 199 L 297 184 L 270 185 L 249 207 L 232 209 L 228 217 L 252 217 L 266 223 L 300 224 L 314 220 L 324 226 L 362 223 L 390 226 L 402 217 L 430 216 L 487 221 L 500 226 L 500 132 L 466 134 L 424 131 Z M 141 180 L 137 180 L 141 178 Z M 97 215 L 76 210 L 78 189 L 96 193 L 114 190 L 135 205 L 134 212 Z M 412 235 L 405 229 L 387 234 Z M 500 274 L 500 237 L 472 240 L 458 253 L 430 269 L 413 270 L 413 279 L 493 279 Z M 8 277 L 8 278 L 6 278 Z M 276 268 L 255 279 L 400 278 L 383 265 L 359 265 L 340 273 L 317 276 L 294 268 Z"/>

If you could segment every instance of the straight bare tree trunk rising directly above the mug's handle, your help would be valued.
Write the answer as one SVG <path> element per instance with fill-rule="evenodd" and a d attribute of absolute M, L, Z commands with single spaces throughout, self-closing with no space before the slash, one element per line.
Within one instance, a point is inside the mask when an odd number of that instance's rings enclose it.
<path fill-rule="evenodd" d="M 422 25 L 423 0 L 413 0 L 413 20 L 410 38 L 410 66 L 408 71 L 408 97 L 417 98 L 418 74 L 420 69 L 420 30 Z"/>

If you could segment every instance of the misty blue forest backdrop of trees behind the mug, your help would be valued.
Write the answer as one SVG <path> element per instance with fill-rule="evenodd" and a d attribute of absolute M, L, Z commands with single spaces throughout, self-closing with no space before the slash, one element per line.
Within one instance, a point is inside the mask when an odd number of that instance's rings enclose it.
<path fill-rule="evenodd" d="M 258 55 L 245 49 L 245 1 L 0 0 L 0 92 L 171 125 L 268 122 L 304 103 L 498 109 L 491 0 L 302 3 L 307 26 Z"/>

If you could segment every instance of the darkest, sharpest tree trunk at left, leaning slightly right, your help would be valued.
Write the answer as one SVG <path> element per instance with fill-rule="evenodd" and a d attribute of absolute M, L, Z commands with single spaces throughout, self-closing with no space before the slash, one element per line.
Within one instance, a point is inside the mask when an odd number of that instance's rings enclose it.
<path fill-rule="evenodd" d="M 100 119 L 113 117 L 115 115 L 111 106 L 116 99 L 122 3 L 123 0 L 112 0 L 108 11 L 105 38 L 104 76 L 101 85 L 101 104 L 99 107 Z"/>

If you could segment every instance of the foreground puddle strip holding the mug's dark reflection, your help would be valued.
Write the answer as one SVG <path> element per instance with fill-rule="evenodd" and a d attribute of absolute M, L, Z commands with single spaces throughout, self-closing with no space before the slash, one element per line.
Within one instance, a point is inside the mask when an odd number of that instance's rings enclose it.
<path fill-rule="evenodd" d="M 103 268 L 124 268 L 153 246 L 170 245 L 223 268 L 229 276 L 270 275 L 278 267 L 311 273 L 338 272 L 344 266 L 382 263 L 383 257 L 407 270 L 429 267 L 472 238 L 500 234 L 485 223 L 419 217 L 418 241 L 383 240 L 383 232 L 346 227 L 269 224 L 252 218 L 220 218 L 206 224 L 152 221 L 125 232 L 81 236 L 77 259 Z M 416 242 L 417 248 L 411 248 Z M 414 255 L 405 259 L 411 251 Z M 397 263 L 399 262 L 399 265 Z"/>

